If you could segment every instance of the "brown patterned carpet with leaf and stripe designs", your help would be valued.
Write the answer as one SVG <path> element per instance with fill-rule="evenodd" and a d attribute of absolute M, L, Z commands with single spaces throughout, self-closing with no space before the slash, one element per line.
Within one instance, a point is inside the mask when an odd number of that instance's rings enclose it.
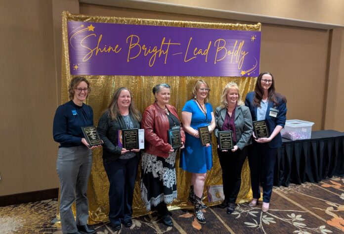
<path fill-rule="evenodd" d="M 56 206 L 55 199 L 0 207 L 0 234 L 62 234 L 51 223 Z M 117 232 L 109 223 L 92 228 L 97 234 L 340 234 L 344 233 L 344 179 L 274 187 L 267 213 L 262 213 L 260 206 L 250 208 L 243 203 L 231 215 L 210 207 L 205 217 L 207 224 L 199 225 L 192 210 L 174 210 L 172 228 L 164 226 L 154 213 L 133 219 L 130 228 L 122 226 Z"/>

